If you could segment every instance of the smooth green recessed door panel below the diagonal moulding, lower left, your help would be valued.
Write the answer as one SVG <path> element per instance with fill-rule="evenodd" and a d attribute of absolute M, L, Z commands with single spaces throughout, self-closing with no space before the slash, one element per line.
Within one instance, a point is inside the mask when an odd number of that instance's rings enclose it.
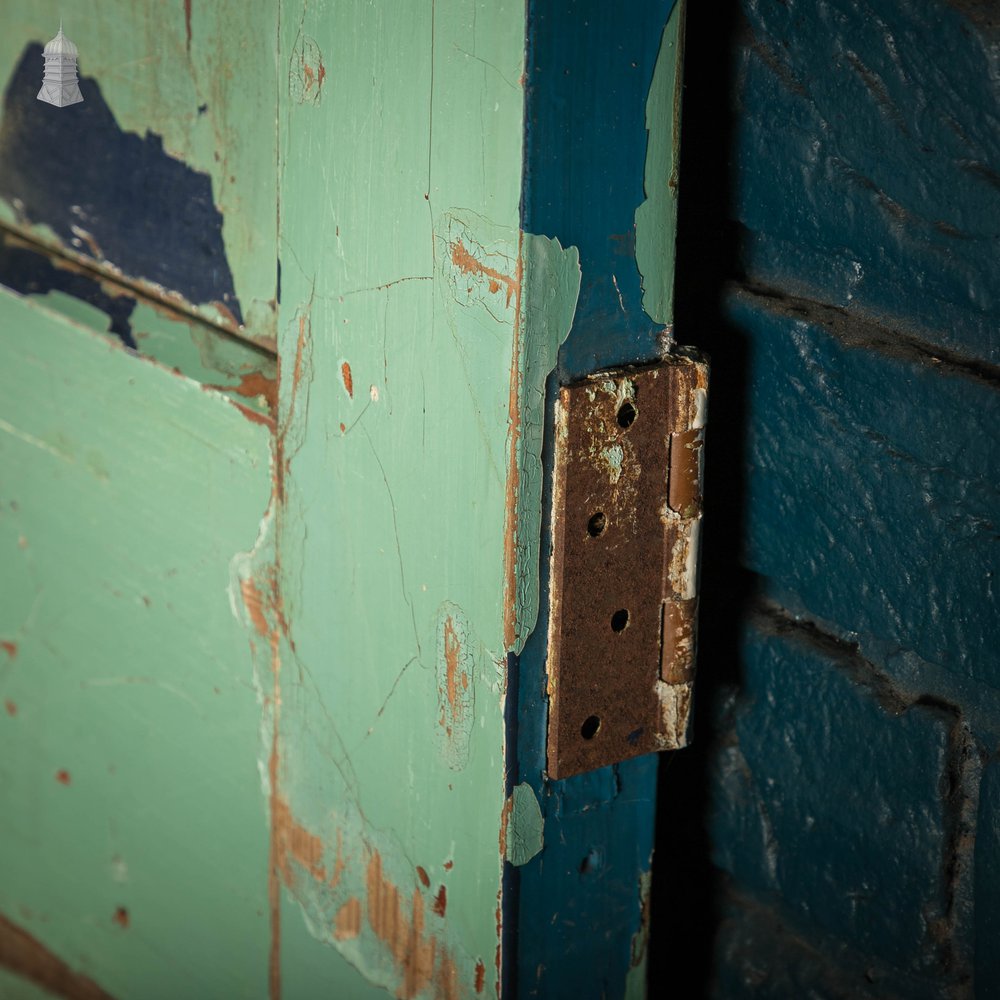
<path fill-rule="evenodd" d="M 6 292 L 0 353 L 0 913 L 112 996 L 266 996 L 260 706 L 228 587 L 269 433 Z"/>

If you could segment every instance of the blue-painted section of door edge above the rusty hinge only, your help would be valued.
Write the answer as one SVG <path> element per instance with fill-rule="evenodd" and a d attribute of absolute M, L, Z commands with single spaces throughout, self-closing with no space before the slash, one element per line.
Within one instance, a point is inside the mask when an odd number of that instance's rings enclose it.
<path fill-rule="evenodd" d="M 580 250 L 564 380 L 658 353 L 642 309 L 635 210 L 645 200 L 646 98 L 673 0 L 528 4 L 522 227 Z M 669 123 L 666 123 L 669 124 Z"/>

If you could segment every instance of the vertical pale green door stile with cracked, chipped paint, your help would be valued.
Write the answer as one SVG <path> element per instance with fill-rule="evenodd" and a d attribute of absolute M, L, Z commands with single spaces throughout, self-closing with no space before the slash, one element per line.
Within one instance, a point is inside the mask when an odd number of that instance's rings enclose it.
<path fill-rule="evenodd" d="M 273 498 L 231 586 L 272 997 L 296 995 L 303 918 L 351 995 L 498 989 L 506 658 L 537 613 L 544 384 L 580 280 L 518 227 L 524 12 L 372 18 L 283 11 L 286 58 L 313 39 L 346 92 L 288 105 Z M 402 179 L 368 166 L 389 134 Z"/>

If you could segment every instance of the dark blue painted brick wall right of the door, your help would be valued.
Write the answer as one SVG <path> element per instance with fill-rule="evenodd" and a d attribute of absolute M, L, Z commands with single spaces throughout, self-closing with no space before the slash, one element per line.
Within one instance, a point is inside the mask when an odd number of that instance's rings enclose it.
<path fill-rule="evenodd" d="M 697 7 L 677 325 L 713 410 L 659 973 L 1000 996 L 1000 14 Z"/>

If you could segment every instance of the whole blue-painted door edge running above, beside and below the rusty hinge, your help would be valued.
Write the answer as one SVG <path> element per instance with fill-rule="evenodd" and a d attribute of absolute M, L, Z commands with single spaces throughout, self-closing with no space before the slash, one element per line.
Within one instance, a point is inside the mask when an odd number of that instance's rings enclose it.
<path fill-rule="evenodd" d="M 635 210 L 645 200 L 646 99 L 673 0 L 528 4 L 522 227 L 580 251 L 573 328 L 546 392 L 559 382 L 658 353 L 642 310 Z M 542 552 L 551 545 L 552 441 L 542 463 Z M 641 932 L 641 876 L 653 849 L 657 757 L 564 781 L 545 776 L 548 559 L 541 612 L 518 662 L 518 780 L 538 797 L 545 846 L 505 881 L 517 892 L 517 981 L 507 996 L 624 996 Z M 515 711 L 515 709 L 511 709 Z M 512 746 L 509 742 L 508 746 Z M 509 866 L 508 866 L 509 868 Z M 509 966 L 508 966 L 509 967 Z"/>

